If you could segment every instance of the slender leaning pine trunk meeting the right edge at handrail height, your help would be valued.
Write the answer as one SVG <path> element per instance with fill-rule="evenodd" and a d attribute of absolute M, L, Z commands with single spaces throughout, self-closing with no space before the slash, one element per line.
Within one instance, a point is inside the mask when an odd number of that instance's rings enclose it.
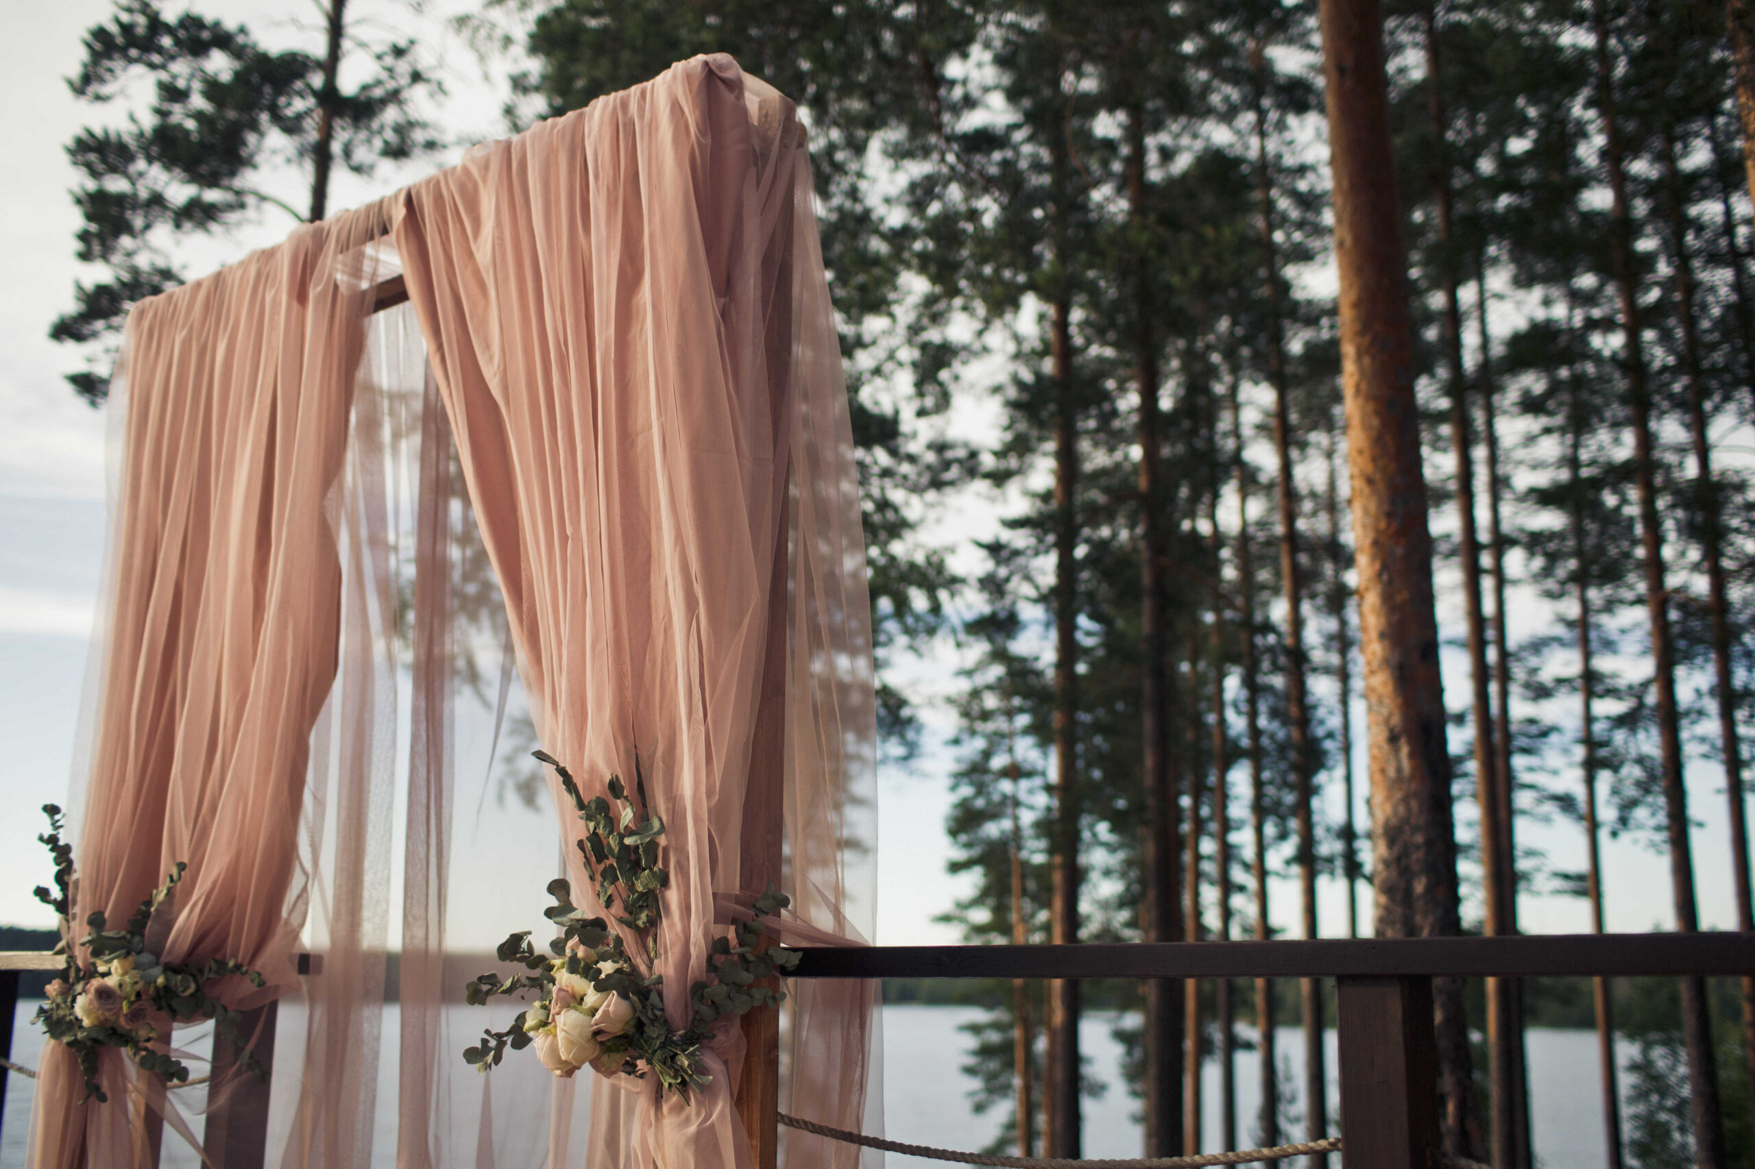
<path fill-rule="evenodd" d="M 1669 183 L 1671 247 L 1676 270 L 1676 325 L 1681 330 L 1681 369 L 1688 386 L 1688 439 L 1694 446 L 1695 493 L 1701 509 L 1701 551 L 1706 558 L 1706 611 L 1713 639 L 1713 683 L 1718 699 L 1718 735 L 1730 802 L 1730 869 L 1737 902 L 1737 929 L 1755 930 L 1750 902 L 1750 837 L 1743 804 L 1743 746 L 1737 741 L 1737 692 L 1730 672 L 1730 600 L 1725 588 L 1723 518 L 1713 451 L 1706 432 L 1706 384 L 1701 374 L 1701 339 L 1695 323 L 1694 256 L 1688 251 L 1688 214 L 1676 169 L 1674 126 L 1664 133 L 1664 174 Z M 1743 1053 L 1750 1058 L 1755 1092 L 1755 978 L 1743 979 Z"/>

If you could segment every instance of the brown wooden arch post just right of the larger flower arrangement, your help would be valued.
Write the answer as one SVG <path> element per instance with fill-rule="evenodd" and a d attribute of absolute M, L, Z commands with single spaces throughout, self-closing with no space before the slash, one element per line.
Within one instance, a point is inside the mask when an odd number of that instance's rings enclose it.
<path fill-rule="evenodd" d="M 774 569 L 769 588 L 767 651 L 756 727 L 749 742 L 749 786 L 744 790 L 739 886 L 763 893 L 781 885 L 784 837 L 784 728 L 786 728 L 786 532 L 790 513 L 779 509 Z M 769 937 L 762 937 L 767 950 Z M 763 983 L 777 985 L 777 979 Z M 755 1169 L 774 1169 L 779 1155 L 779 1011 L 756 1008 L 744 1015 L 744 1069 L 737 1079 L 737 1115 L 749 1134 Z"/>

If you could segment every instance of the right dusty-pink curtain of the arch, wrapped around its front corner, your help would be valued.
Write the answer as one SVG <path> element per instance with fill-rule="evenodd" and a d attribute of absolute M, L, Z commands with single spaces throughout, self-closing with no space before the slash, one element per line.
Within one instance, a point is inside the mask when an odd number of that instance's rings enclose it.
<path fill-rule="evenodd" d="M 858 941 L 872 902 L 856 874 L 876 846 L 870 614 L 792 104 L 728 56 L 684 61 L 409 188 L 395 242 L 544 748 L 588 795 L 630 776 L 637 753 L 665 820 L 658 971 L 672 1025 L 737 893 L 760 892 L 739 888 L 739 841 L 776 588 L 793 932 Z M 551 795 L 584 904 L 579 825 Z M 872 1008 L 865 985 L 795 995 L 784 1106 L 878 1123 Z M 588 1148 L 600 1167 L 748 1165 L 741 1062 L 734 1023 L 690 1106 L 651 1083 L 597 1081 L 588 1141 L 572 1127 L 576 1083 L 553 1083 L 548 1164 Z M 532 1106 L 495 1097 L 490 1115 Z M 430 1116 L 439 1160 L 467 1139 L 446 1136 L 455 1118 Z M 476 1130 L 477 1164 L 502 1130 Z M 816 1139 L 788 1150 L 792 1165 L 856 1158 Z"/>

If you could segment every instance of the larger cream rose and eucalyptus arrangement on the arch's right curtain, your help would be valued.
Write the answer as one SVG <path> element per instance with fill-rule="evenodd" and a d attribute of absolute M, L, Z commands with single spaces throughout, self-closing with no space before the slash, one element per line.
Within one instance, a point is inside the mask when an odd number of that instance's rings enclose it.
<path fill-rule="evenodd" d="M 544 916 L 560 927 L 549 953 L 532 948 L 530 930 L 512 934 L 500 943 L 498 958 L 518 962 L 528 972 L 504 979 L 481 974 L 465 988 L 474 1006 L 493 995 L 530 990 L 537 992 L 537 1002 L 507 1030 L 486 1029 L 481 1044 L 467 1048 L 463 1058 L 486 1071 L 507 1048 L 534 1048 L 556 1076 L 572 1076 L 581 1067 L 600 1076 L 656 1076 L 662 1090 L 688 1099 L 709 1079 L 700 1069 L 700 1048 L 713 1039 L 713 1025 L 784 1000 L 784 992 L 758 983 L 799 964 L 797 953 L 762 944 L 762 918 L 790 902 L 769 888 L 755 900 L 749 922 L 737 922 L 730 936 L 714 939 L 707 978 L 690 990 L 690 1025 L 672 1032 L 663 1009 L 663 976 L 642 972 L 658 958 L 662 893 L 670 878 L 658 864 L 663 820 L 648 811 L 639 760 L 634 764 L 634 800 L 620 776 L 609 778 L 607 800 L 600 795 L 586 800 L 560 762 L 544 751 L 534 757 L 560 774 L 562 790 L 586 823 L 588 832 L 577 843 L 584 869 L 597 885 L 598 904 L 634 936 L 635 951 L 628 950 L 621 930 L 574 907 L 567 881 L 549 881 L 555 904 Z"/>

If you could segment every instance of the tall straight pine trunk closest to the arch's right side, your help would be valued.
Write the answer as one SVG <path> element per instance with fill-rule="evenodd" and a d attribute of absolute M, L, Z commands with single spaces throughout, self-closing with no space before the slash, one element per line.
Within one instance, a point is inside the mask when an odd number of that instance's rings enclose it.
<path fill-rule="evenodd" d="M 1071 167 L 1060 135 L 1049 135 L 1057 207 L 1055 255 L 1065 263 Z M 1062 277 L 1065 281 L 1065 277 Z M 1049 304 L 1049 362 L 1055 379 L 1055 857 L 1051 872 L 1051 937 L 1057 946 L 1079 941 L 1079 827 L 1078 760 L 1078 486 L 1079 409 L 1072 376 L 1072 293 L 1065 283 Z M 1048 1155 L 1078 1157 L 1079 1125 L 1079 983 L 1053 979 L 1048 1048 Z"/>

